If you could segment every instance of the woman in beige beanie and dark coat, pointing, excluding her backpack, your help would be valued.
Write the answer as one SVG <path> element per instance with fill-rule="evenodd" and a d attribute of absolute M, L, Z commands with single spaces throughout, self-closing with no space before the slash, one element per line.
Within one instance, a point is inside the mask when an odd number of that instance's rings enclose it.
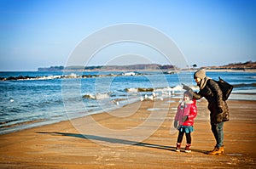
<path fill-rule="evenodd" d="M 227 103 L 223 100 L 223 93 L 218 87 L 218 83 L 206 76 L 205 70 L 197 70 L 194 74 L 195 82 L 200 91 L 195 93 L 191 88 L 183 85 L 183 89 L 193 93 L 193 99 L 206 98 L 208 101 L 208 110 L 210 110 L 211 127 L 216 145 L 208 155 L 219 155 L 224 153 L 224 121 L 229 121 L 229 109 Z"/>

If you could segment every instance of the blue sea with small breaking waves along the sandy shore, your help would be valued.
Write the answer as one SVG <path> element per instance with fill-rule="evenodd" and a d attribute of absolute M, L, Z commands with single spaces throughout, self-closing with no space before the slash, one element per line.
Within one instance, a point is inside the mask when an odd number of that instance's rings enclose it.
<path fill-rule="evenodd" d="M 0 81 L 0 134 L 108 112 L 137 101 L 182 98 L 182 83 L 198 90 L 193 74 L 194 71 L 0 72 L 1 79 L 26 76 Z M 234 86 L 229 99 L 256 100 L 256 72 L 209 71 L 207 76 L 215 80 L 221 77 Z"/>

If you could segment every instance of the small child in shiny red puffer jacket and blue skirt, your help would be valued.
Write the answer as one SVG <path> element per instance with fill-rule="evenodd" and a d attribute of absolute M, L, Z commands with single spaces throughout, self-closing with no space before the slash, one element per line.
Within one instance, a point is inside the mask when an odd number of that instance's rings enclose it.
<path fill-rule="evenodd" d="M 197 114 L 195 100 L 192 99 L 192 93 L 186 91 L 183 93 L 183 100 L 177 107 L 177 113 L 175 115 L 174 127 L 177 128 L 177 147 L 176 151 L 180 152 L 181 143 L 183 141 L 183 135 L 186 134 L 187 144 L 185 147 L 185 152 L 190 153 L 191 149 L 191 135 L 190 133 L 194 131 L 193 124 L 194 119 Z"/>

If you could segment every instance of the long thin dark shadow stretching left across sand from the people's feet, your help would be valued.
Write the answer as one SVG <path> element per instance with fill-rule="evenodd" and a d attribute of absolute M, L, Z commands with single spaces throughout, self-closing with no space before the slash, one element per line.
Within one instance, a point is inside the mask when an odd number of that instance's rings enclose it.
<path fill-rule="evenodd" d="M 87 134 L 67 133 L 67 132 L 37 132 L 37 133 L 61 135 L 61 136 L 73 137 L 73 138 L 94 139 L 94 140 L 104 141 L 104 142 L 113 143 L 113 144 L 125 144 L 125 145 L 148 147 L 148 148 L 154 148 L 154 149 L 165 149 L 165 150 L 171 150 L 171 151 L 175 151 L 176 149 L 176 147 L 172 147 L 172 146 L 166 146 L 166 145 L 160 145 L 160 144 L 148 144 L 143 142 L 135 142 L 131 140 L 119 139 L 119 138 L 106 138 L 106 137 L 87 135 Z M 207 151 L 201 150 L 201 149 L 191 149 L 191 150 L 198 153 L 203 153 L 203 154 L 207 153 Z"/>

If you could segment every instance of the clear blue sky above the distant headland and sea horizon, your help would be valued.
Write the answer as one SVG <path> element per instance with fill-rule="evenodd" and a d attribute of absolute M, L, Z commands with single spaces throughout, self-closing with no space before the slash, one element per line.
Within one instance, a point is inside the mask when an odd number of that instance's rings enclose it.
<path fill-rule="evenodd" d="M 120 24 L 162 32 L 187 65 L 256 61 L 255 18 L 255 0 L 0 0 L 0 71 L 67 65 L 86 37 Z M 169 64 L 157 53 L 120 42 L 88 65 Z"/>

